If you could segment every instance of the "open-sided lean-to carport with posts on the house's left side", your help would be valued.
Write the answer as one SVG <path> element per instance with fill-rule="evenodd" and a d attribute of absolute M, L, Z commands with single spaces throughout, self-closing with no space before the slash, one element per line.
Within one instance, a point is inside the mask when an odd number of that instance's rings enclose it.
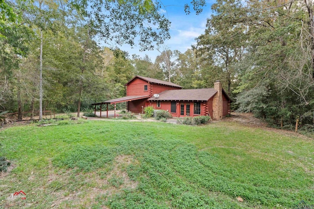
<path fill-rule="evenodd" d="M 106 118 L 108 118 L 108 104 L 114 104 L 114 118 L 116 118 L 116 104 L 117 103 L 131 102 L 131 101 L 142 100 L 142 99 L 147 99 L 147 98 L 150 98 L 150 96 L 149 95 L 127 96 L 127 97 L 121 97 L 121 98 L 117 98 L 113 100 L 108 100 L 101 103 L 94 103 L 92 105 L 95 105 L 95 108 L 94 108 L 95 115 L 96 115 L 96 105 L 100 105 L 100 117 L 102 117 L 102 107 L 103 107 L 103 104 L 105 104 L 106 105 Z"/>

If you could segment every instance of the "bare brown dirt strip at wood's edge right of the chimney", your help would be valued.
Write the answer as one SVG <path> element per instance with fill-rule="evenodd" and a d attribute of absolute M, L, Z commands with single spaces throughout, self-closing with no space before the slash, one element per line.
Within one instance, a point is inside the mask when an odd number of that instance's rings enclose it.
<path fill-rule="evenodd" d="M 297 136 L 297 137 L 301 137 L 304 139 L 312 139 L 313 140 L 313 138 L 310 138 L 310 137 L 307 137 L 305 135 L 296 133 L 294 131 L 288 131 L 288 130 L 282 130 L 282 129 L 275 129 L 275 128 L 267 127 L 267 123 L 263 122 L 262 120 L 260 120 L 258 118 L 255 118 L 252 113 L 232 112 L 231 117 L 225 117 L 220 121 L 213 121 L 213 122 L 215 122 L 215 123 L 236 122 L 236 123 L 240 123 L 241 125 L 247 126 L 247 127 L 261 128 L 263 130 L 277 132 L 277 133 L 280 133 L 280 134 L 286 135 L 286 136 Z"/>

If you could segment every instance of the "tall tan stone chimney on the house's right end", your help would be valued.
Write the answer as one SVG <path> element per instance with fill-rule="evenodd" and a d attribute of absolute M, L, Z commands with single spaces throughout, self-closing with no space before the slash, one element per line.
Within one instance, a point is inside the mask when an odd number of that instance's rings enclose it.
<path fill-rule="evenodd" d="M 223 116 L 222 85 L 220 80 L 214 82 L 214 89 L 217 93 L 212 101 L 213 119 L 220 120 Z"/>

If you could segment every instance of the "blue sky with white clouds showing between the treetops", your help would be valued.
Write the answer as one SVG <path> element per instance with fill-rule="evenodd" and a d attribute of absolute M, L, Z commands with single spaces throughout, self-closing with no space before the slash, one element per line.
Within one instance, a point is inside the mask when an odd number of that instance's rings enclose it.
<path fill-rule="evenodd" d="M 170 50 L 179 50 L 185 52 L 191 45 L 195 44 L 195 38 L 205 32 L 207 18 L 212 14 L 210 6 L 213 1 L 207 0 L 207 6 L 203 8 L 203 12 L 196 15 L 191 8 L 191 13 L 186 15 L 184 12 L 184 4 L 191 0 L 161 0 L 164 8 L 160 12 L 165 15 L 171 22 L 170 35 L 171 39 L 166 40 L 164 46 Z M 121 50 L 129 52 L 130 58 L 132 54 L 144 57 L 147 54 L 154 62 L 160 53 L 155 49 L 153 51 L 140 52 L 139 47 L 118 46 Z M 162 50 L 161 50 L 162 51 Z"/>

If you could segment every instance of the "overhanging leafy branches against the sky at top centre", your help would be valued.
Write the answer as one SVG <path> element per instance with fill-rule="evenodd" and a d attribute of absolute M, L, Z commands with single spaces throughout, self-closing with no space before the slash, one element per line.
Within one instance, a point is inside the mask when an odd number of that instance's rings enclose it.
<path fill-rule="evenodd" d="M 170 38 L 170 22 L 158 11 L 161 1 L 154 0 L 70 0 L 106 43 L 134 46 L 139 37 L 141 50 L 152 50 Z M 187 14 L 190 7 L 199 14 L 206 6 L 205 0 L 192 0 L 184 5 Z"/>

